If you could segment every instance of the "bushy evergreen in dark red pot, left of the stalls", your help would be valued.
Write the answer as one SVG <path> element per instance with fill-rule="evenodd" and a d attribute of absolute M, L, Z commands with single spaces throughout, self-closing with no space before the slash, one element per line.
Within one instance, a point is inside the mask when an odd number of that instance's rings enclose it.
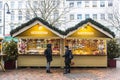
<path fill-rule="evenodd" d="M 17 43 L 13 40 L 10 42 L 3 42 L 3 54 L 6 56 L 3 58 L 5 69 L 15 69 L 16 60 L 18 56 Z"/>

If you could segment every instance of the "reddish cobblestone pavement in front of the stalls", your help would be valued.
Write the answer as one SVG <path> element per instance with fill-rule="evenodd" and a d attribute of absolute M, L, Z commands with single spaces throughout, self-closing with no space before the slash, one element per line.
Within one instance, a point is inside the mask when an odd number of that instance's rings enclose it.
<path fill-rule="evenodd" d="M 120 80 L 120 68 L 72 68 L 70 74 L 63 74 L 61 68 L 19 68 L 0 70 L 0 80 Z"/>

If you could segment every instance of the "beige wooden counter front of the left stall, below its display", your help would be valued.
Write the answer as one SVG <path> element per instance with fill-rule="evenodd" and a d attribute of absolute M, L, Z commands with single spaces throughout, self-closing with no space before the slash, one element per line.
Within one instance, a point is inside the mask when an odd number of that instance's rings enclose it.
<path fill-rule="evenodd" d="M 60 67 L 61 66 L 60 55 L 53 55 L 53 61 L 51 66 Z M 19 54 L 17 59 L 18 67 L 45 67 L 46 58 L 41 54 Z"/>

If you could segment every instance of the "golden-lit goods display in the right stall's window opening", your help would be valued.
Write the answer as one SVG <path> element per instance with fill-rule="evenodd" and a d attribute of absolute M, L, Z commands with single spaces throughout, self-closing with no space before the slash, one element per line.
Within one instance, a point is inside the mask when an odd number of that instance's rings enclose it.
<path fill-rule="evenodd" d="M 99 39 L 67 39 L 66 45 L 76 55 L 106 55 L 104 40 Z"/>

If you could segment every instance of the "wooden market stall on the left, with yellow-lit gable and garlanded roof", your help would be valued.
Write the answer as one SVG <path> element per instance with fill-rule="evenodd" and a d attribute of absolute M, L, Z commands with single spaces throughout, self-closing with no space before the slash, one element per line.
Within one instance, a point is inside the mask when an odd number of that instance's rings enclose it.
<path fill-rule="evenodd" d="M 38 17 L 12 30 L 11 35 L 19 39 L 17 66 L 46 66 L 44 50 L 47 44 L 52 44 L 53 61 L 51 66 L 60 67 L 62 65 L 63 36 L 59 32 L 59 29 Z"/>

